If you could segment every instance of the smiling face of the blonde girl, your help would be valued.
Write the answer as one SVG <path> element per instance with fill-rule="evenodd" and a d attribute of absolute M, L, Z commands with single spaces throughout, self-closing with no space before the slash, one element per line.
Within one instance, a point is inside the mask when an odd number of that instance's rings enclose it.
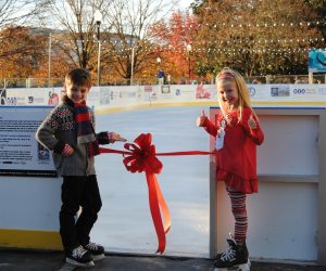
<path fill-rule="evenodd" d="M 236 109 L 239 106 L 239 92 L 235 80 L 218 81 L 217 95 L 222 105 L 228 109 Z"/>

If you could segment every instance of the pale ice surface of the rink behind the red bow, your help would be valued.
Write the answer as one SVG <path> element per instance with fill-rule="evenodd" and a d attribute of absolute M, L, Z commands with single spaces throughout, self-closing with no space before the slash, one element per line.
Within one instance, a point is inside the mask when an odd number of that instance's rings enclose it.
<path fill-rule="evenodd" d="M 205 106 L 149 107 L 97 115 L 97 132 L 116 131 L 133 142 L 152 133 L 156 152 L 209 151 L 209 134 L 196 126 Z M 108 145 L 124 150 L 123 143 Z M 209 156 L 158 156 L 158 175 L 172 217 L 165 255 L 209 257 Z M 91 232 L 108 251 L 153 254 L 158 240 L 149 209 L 145 173 L 130 173 L 120 154 L 96 162 L 103 207 Z"/>

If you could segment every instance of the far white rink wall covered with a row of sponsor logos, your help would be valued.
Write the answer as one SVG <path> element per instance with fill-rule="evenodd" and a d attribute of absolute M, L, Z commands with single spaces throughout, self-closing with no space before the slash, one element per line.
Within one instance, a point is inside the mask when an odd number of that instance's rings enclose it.
<path fill-rule="evenodd" d="M 249 85 L 253 104 L 280 106 L 285 103 L 304 106 L 326 105 L 326 85 L 273 83 Z M 62 88 L 4 89 L 1 90 L 1 105 L 38 106 L 57 105 L 64 92 Z M 209 102 L 217 104 L 214 85 L 151 85 L 151 86 L 110 86 L 92 87 L 87 104 L 93 109 L 128 108 L 154 104 L 181 104 Z"/>

